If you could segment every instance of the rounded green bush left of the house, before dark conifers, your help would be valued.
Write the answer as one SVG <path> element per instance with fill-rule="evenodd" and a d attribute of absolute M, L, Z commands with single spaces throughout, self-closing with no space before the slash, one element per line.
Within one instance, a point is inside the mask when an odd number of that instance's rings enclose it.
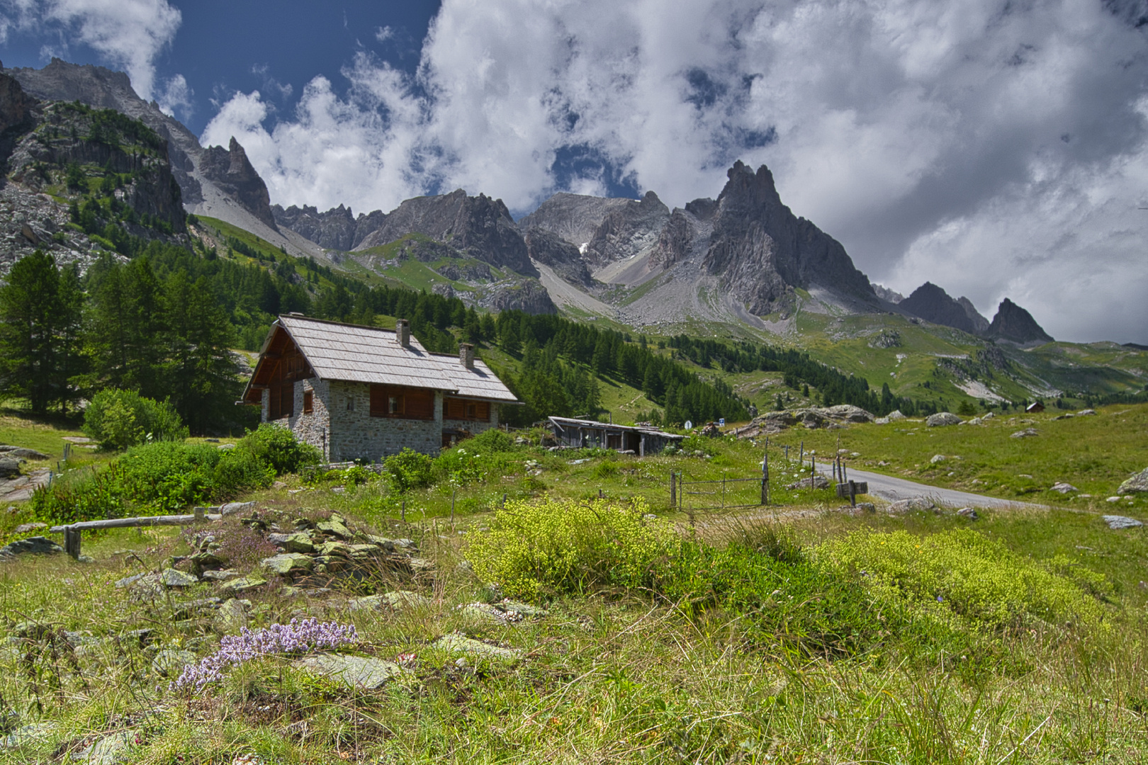
<path fill-rule="evenodd" d="M 125 450 L 146 442 L 184 440 L 188 430 L 170 401 L 133 390 L 101 390 L 84 411 L 84 432 L 101 448 Z"/>

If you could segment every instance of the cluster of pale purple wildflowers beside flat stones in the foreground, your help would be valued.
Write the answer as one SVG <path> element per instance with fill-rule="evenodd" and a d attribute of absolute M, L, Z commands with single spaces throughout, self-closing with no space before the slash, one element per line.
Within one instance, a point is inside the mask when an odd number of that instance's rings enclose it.
<path fill-rule="evenodd" d="M 319 623 L 318 619 L 292 619 L 290 624 L 272 624 L 263 630 L 243 630 L 238 635 L 226 635 L 219 649 L 197 664 L 188 664 L 171 684 L 173 690 L 194 687 L 196 692 L 209 682 L 223 680 L 223 673 L 235 664 L 272 654 L 305 654 L 311 650 L 331 650 L 358 642 L 354 624 Z"/>

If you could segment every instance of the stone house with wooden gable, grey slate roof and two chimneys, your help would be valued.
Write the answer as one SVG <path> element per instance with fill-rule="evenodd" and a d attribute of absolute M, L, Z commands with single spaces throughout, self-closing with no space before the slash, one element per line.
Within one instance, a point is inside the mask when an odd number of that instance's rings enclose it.
<path fill-rule="evenodd" d="M 498 426 L 514 395 L 463 343 L 430 353 L 403 319 L 395 329 L 279 317 L 243 403 L 289 428 L 328 461 L 374 461 L 404 447 L 424 454 Z"/>

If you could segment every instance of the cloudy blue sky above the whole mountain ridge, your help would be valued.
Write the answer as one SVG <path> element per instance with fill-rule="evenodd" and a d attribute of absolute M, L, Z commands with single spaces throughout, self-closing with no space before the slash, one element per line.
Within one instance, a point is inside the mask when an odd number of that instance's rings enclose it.
<path fill-rule="evenodd" d="M 272 202 L 670 206 L 735 159 L 870 279 L 1148 342 L 1148 0 L 0 0 L 0 58 L 127 71 Z"/>

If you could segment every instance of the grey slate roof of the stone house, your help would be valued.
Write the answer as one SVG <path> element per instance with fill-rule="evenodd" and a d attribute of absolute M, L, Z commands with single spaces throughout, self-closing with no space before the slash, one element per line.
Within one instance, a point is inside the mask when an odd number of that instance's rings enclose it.
<path fill-rule="evenodd" d="M 482 361 L 475 359 L 474 368 L 467 369 L 457 356 L 428 352 L 413 335 L 410 348 L 403 348 L 395 339 L 394 329 L 293 315 L 279 317 L 277 323 L 323 380 L 429 388 L 467 398 L 518 401 Z M 269 343 L 274 329 L 272 326 Z"/>

